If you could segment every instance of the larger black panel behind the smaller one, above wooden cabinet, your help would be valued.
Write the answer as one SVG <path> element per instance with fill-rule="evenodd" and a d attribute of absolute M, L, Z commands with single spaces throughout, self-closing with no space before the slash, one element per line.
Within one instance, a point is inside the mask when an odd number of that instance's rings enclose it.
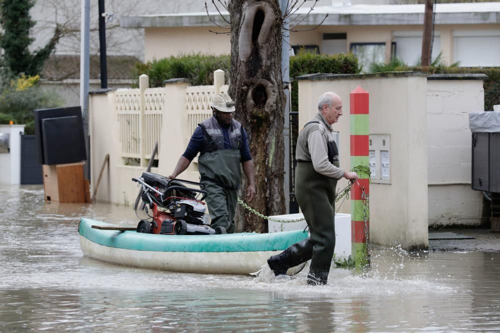
<path fill-rule="evenodd" d="M 42 138 L 42 120 L 46 118 L 58 118 L 58 117 L 69 117 L 69 116 L 76 116 L 78 119 L 77 126 L 74 127 L 71 131 L 71 136 L 78 136 L 81 138 L 81 141 L 83 144 L 82 146 L 78 147 L 73 147 L 72 150 L 78 151 L 81 155 L 82 158 L 78 160 L 77 162 L 86 160 L 86 153 L 85 153 L 85 145 L 84 145 L 84 135 L 83 135 L 83 120 L 81 118 L 81 108 L 79 106 L 72 106 L 72 107 L 62 107 L 62 108 L 53 108 L 53 109 L 38 109 L 38 110 L 33 110 L 34 113 L 34 133 L 35 133 L 35 138 L 36 138 L 36 145 L 38 148 L 38 162 L 40 164 L 48 164 L 46 161 L 44 161 L 44 145 L 43 144 L 43 138 Z M 50 146 L 46 146 L 47 149 L 52 149 Z M 71 163 L 71 162 L 64 162 L 64 163 Z"/>

